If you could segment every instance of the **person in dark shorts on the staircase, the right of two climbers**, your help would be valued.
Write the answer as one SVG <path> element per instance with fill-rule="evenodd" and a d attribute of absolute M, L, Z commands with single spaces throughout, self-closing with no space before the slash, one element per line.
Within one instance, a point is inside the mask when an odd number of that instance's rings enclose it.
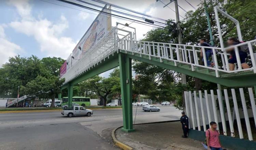
<path fill-rule="evenodd" d="M 232 46 L 232 45 L 237 45 L 243 42 L 240 42 L 238 39 L 236 38 L 229 38 L 227 41 L 228 46 Z M 248 49 L 247 45 L 243 45 L 243 46 L 239 46 L 238 50 L 239 50 L 239 58 L 240 58 L 240 62 L 242 65 L 243 69 L 247 69 L 250 66 L 246 63 L 245 59 L 247 58 L 247 52 L 246 50 Z M 235 63 L 237 63 L 237 57 L 236 57 L 236 52 L 234 50 L 234 48 L 230 48 L 227 49 L 227 52 L 230 54 L 230 59 L 228 60 L 229 63 L 229 70 L 233 71 L 234 67 L 235 67 Z"/>

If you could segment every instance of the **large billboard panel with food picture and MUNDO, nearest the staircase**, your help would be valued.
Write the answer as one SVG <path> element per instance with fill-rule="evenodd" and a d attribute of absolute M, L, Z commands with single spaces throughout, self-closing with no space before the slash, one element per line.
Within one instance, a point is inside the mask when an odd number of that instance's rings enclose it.
<path fill-rule="evenodd" d="M 111 13 L 110 10 L 105 7 L 102 9 L 103 12 Z M 109 26 L 111 27 L 111 16 L 108 14 L 100 13 L 96 19 L 93 21 L 89 29 L 85 32 L 82 39 L 76 45 L 74 50 L 72 51 L 72 56 L 74 59 L 72 60 L 72 66 L 75 66 L 77 61 L 81 59 L 86 51 L 91 49 L 94 45 L 96 45 L 105 35 L 108 34 Z"/>

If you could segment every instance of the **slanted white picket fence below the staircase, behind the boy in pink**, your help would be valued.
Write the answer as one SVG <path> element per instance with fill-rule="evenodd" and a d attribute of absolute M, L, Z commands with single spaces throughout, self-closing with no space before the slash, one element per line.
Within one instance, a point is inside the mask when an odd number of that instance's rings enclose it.
<path fill-rule="evenodd" d="M 236 93 L 235 89 L 231 89 L 230 95 L 228 95 L 227 89 L 223 90 L 224 95 L 220 90 L 217 90 L 217 95 L 214 95 L 214 90 L 210 90 L 210 93 L 207 90 L 204 90 L 204 93 L 202 91 L 198 91 L 198 93 L 196 91 L 184 91 L 189 128 L 206 131 L 207 125 L 211 121 L 221 122 L 223 134 L 227 136 L 227 129 L 229 129 L 229 136 L 235 137 L 233 123 L 236 119 L 239 137 L 243 139 L 241 119 L 244 119 L 248 139 L 253 140 L 249 118 L 254 118 L 256 126 L 256 107 L 253 89 L 248 88 L 247 90 L 250 100 L 245 99 L 243 88 L 239 89 L 239 93 Z M 238 106 L 237 96 L 241 98 L 242 108 Z M 217 100 L 218 103 L 216 103 Z M 246 101 L 250 102 L 249 107 L 246 106 Z M 247 104 L 249 104 L 248 102 Z M 233 103 L 233 108 L 230 108 L 230 103 Z M 228 124 L 226 124 L 226 121 L 228 121 Z"/>

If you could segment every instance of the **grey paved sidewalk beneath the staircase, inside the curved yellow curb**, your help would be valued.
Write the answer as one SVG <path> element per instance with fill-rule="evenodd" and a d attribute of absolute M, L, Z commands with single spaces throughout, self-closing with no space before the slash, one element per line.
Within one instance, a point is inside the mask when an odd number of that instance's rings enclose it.
<path fill-rule="evenodd" d="M 200 141 L 182 138 L 180 122 L 139 124 L 136 132 L 126 133 L 119 128 L 115 137 L 135 150 L 204 150 Z"/>

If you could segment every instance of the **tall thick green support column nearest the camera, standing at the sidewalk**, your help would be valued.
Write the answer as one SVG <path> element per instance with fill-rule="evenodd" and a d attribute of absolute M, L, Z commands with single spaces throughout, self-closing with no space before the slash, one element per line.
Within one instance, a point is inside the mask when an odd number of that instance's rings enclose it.
<path fill-rule="evenodd" d="M 122 131 L 135 131 L 132 127 L 132 78 L 131 78 L 131 58 L 126 54 L 119 53 L 120 85 L 123 107 L 123 128 Z"/>

